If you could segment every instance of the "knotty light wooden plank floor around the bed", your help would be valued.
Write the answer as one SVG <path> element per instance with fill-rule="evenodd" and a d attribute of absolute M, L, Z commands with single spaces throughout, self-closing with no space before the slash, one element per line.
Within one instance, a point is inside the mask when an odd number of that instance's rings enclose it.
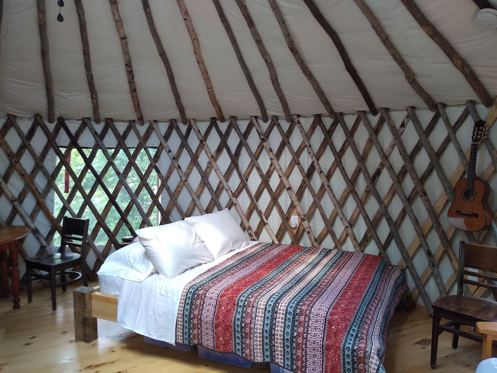
<path fill-rule="evenodd" d="M 238 368 L 199 359 L 196 349 L 180 352 L 146 344 L 141 336 L 117 324 L 99 320 L 99 339 L 90 344 L 74 340 L 73 294 L 57 288 L 57 310 L 52 312 L 50 288 L 39 281 L 33 302 L 21 291 L 21 308 L 0 297 L 0 372 L 93 373 L 268 373 L 264 364 Z M 90 284 L 92 286 L 96 283 Z M 387 373 L 430 372 L 431 318 L 423 307 L 397 312 L 388 338 Z M 438 367 L 434 372 L 474 373 L 480 362 L 481 344 L 460 338 L 451 347 L 451 335 L 442 333 Z"/>

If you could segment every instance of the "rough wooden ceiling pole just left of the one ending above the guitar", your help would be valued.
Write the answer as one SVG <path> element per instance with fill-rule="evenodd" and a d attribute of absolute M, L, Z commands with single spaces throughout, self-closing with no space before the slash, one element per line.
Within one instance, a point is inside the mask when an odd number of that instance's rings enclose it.
<path fill-rule="evenodd" d="M 383 43 L 387 51 L 390 53 L 394 61 L 397 62 L 397 65 L 399 65 L 399 67 L 402 69 L 404 75 L 406 76 L 407 82 L 411 85 L 414 92 L 417 93 L 419 97 L 421 97 L 421 99 L 424 101 L 426 106 L 428 106 L 428 108 L 431 111 L 435 111 L 436 110 L 435 101 L 433 101 L 430 95 L 426 93 L 426 91 L 424 91 L 422 87 L 417 83 L 413 71 L 408 66 L 406 61 L 404 61 L 397 48 L 395 48 L 394 44 L 392 43 L 387 33 L 381 26 L 378 18 L 376 18 L 376 16 L 373 14 L 369 6 L 366 5 L 366 2 L 364 0 L 354 0 L 354 2 L 359 7 L 359 9 L 361 9 L 362 13 L 366 16 L 369 23 L 371 23 L 371 27 L 376 32 L 376 34 L 378 35 L 381 42 Z"/>

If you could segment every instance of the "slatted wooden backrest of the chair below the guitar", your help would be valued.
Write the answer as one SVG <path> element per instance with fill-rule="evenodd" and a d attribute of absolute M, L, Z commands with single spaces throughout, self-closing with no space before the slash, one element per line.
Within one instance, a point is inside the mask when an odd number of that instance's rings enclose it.
<path fill-rule="evenodd" d="M 459 274 L 457 293 L 463 294 L 464 284 L 497 290 L 497 248 L 459 243 Z"/>

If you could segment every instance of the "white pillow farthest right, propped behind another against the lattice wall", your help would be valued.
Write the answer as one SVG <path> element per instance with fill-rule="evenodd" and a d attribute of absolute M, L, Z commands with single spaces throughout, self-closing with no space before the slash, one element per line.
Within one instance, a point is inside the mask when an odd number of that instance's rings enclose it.
<path fill-rule="evenodd" d="M 190 216 L 185 221 L 195 228 L 214 258 L 248 245 L 247 235 L 227 208 L 210 214 Z"/>

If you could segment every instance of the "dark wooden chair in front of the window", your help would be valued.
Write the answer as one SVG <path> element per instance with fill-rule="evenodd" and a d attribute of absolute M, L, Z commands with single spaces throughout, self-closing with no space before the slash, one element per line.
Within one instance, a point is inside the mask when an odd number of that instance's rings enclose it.
<path fill-rule="evenodd" d="M 57 309 L 55 298 L 56 286 L 62 286 L 62 290 L 66 291 L 68 283 L 79 279 L 83 279 L 83 285 L 88 286 L 88 280 L 84 271 L 86 267 L 85 250 L 88 223 L 89 219 L 83 220 L 65 216 L 62 222 L 61 246 L 57 253 L 40 255 L 25 261 L 29 303 L 33 301 L 32 278 L 50 281 L 52 309 L 54 311 Z M 66 252 L 67 246 L 70 247 L 71 252 Z M 76 266 L 80 266 L 81 272 L 68 271 Z M 34 270 L 37 271 L 35 272 Z M 48 272 L 48 274 L 45 275 L 38 271 Z M 57 283 L 57 274 L 60 274 L 60 283 Z"/>

